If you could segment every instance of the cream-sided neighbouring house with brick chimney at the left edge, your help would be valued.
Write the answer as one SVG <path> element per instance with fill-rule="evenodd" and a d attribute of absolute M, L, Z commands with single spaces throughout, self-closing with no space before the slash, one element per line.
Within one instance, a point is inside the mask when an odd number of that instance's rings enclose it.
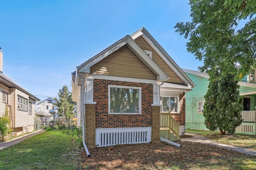
<path fill-rule="evenodd" d="M 0 116 L 9 111 L 10 127 L 14 135 L 34 131 L 35 102 L 38 98 L 30 94 L 8 76 L 3 74 L 3 55 L 0 51 Z"/>

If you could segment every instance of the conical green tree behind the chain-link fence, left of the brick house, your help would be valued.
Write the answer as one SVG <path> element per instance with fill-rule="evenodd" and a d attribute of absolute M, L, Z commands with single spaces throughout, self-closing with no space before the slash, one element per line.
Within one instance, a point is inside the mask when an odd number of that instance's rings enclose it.
<path fill-rule="evenodd" d="M 73 116 L 75 102 L 72 101 L 72 93 L 68 90 L 67 85 L 64 85 L 58 92 L 59 100 L 56 100 L 55 106 L 58 107 L 58 114 L 66 118 Z"/>

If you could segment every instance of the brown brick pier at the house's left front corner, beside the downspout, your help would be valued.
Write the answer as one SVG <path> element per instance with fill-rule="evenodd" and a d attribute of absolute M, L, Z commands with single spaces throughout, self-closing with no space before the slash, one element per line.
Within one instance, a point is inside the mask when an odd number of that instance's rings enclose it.
<path fill-rule="evenodd" d="M 87 148 L 95 148 L 95 104 L 85 104 L 84 130 Z"/>

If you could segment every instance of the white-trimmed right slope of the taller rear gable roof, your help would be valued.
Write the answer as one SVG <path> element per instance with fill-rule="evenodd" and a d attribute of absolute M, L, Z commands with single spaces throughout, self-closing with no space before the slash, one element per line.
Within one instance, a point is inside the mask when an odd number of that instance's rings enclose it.
<path fill-rule="evenodd" d="M 188 86 L 194 87 L 192 80 L 182 71 L 182 69 L 174 62 L 174 60 L 166 53 L 161 45 L 150 35 L 150 33 L 143 27 L 131 35 L 132 39 L 142 36 L 145 41 L 158 53 L 158 55 L 168 64 L 170 68 L 179 76 L 179 78 Z"/>

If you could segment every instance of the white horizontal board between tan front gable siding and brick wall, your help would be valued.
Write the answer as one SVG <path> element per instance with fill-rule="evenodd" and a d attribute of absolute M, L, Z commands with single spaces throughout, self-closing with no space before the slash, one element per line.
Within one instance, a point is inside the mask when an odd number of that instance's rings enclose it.
<path fill-rule="evenodd" d="M 147 79 L 142 79 L 142 78 L 118 77 L 118 76 L 106 76 L 106 75 L 98 75 L 98 74 L 89 74 L 88 78 L 122 81 L 122 82 L 146 83 L 146 84 L 156 84 L 157 83 L 156 80 L 147 80 Z"/>

